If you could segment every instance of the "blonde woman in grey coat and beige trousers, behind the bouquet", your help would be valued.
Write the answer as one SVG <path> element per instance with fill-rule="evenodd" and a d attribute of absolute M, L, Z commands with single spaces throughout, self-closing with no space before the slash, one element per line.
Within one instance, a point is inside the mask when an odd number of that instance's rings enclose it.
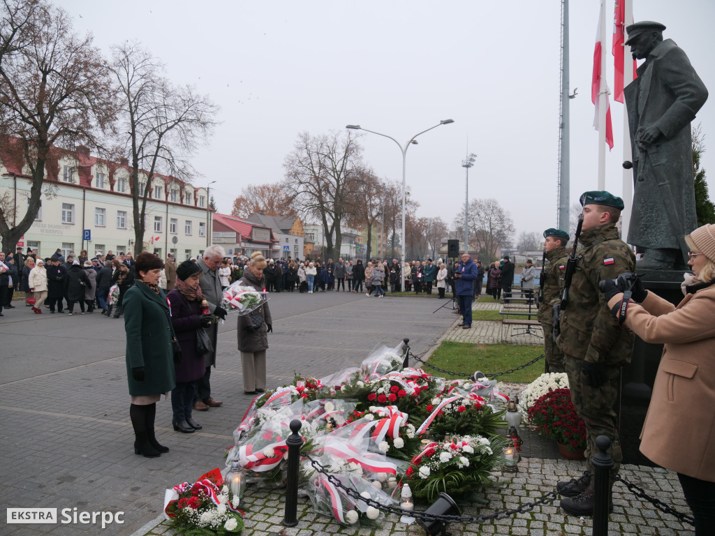
<path fill-rule="evenodd" d="M 239 284 L 251 287 L 257 292 L 265 288 L 263 270 L 266 259 L 260 252 L 251 255 L 251 259 L 239 279 Z M 266 388 L 266 350 L 268 333 L 273 331 L 273 320 L 268 304 L 264 303 L 249 314 L 238 317 L 238 349 L 243 365 L 243 392 L 257 394 Z"/>

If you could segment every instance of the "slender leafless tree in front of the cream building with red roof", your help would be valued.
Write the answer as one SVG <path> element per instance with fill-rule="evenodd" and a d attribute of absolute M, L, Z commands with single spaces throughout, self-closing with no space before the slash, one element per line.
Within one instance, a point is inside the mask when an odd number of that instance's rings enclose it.
<path fill-rule="evenodd" d="M 122 146 L 130 157 L 134 252 L 139 254 L 154 175 L 191 182 L 197 172 L 189 157 L 213 134 L 219 108 L 193 86 L 171 84 L 162 76 L 162 64 L 139 44 L 114 46 L 112 72 L 122 99 Z M 144 192 L 139 174 L 146 177 Z"/>

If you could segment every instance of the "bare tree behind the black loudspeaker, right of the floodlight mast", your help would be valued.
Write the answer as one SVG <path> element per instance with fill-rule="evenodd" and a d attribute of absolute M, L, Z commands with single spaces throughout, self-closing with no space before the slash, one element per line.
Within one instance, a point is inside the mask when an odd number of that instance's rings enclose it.
<path fill-rule="evenodd" d="M 462 222 L 464 210 L 457 214 L 453 225 L 459 228 Z M 496 199 L 472 199 L 469 202 L 470 247 L 478 250 L 480 257 L 495 259 L 497 249 L 511 240 L 513 232 L 511 216 Z"/>

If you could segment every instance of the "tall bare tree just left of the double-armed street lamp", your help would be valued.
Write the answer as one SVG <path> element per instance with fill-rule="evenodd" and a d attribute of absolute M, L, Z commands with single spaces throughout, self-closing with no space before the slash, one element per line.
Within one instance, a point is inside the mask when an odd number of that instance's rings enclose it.
<path fill-rule="evenodd" d="M 345 138 L 302 132 L 283 163 L 288 195 L 305 217 L 320 221 L 328 257 L 340 254 L 341 225 L 355 214 L 350 195 L 362 180 L 362 152 L 351 132 Z"/>

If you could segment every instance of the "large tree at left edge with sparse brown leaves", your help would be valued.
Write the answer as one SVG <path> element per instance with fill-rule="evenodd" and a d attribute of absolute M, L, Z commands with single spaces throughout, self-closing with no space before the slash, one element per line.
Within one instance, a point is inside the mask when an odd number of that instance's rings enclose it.
<path fill-rule="evenodd" d="M 31 176 L 24 217 L 16 222 L 14 211 L 0 207 L 9 252 L 39 212 L 48 162 L 56 165 L 77 144 L 102 148 L 117 108 L 102 54 L 92 36 L 77 36 L 66 11 L 20 0 L 4 0 L 0 9 L 0 148 Z"/>

